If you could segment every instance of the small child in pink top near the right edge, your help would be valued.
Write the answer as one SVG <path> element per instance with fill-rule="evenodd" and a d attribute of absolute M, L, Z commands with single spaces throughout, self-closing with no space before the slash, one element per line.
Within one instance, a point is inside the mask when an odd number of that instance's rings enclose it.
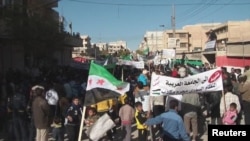
<path fill-rule="evenodd" d="M 224 125 L 236 125 L 236 119 L 237 119 L 237 104 L 231 103 L 230 108 L 228 111 L 224 113 L 224 117 L 222 119 L 222 122 Z"/>

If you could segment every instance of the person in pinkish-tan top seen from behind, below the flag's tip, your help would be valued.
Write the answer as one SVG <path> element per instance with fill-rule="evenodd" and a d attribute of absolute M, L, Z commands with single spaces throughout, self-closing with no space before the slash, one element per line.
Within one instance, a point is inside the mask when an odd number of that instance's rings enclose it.
<path fill-rule="evenodd" d="M 125 130 L 126 135 L 123 141 L 131 141 L 131 126 L 134 120 L 135 111 L 134 108 L 129 105 L 129 101 L 126 98 L 125 104 L 119 110 L 119 117 L 121 119 L 121 129 Z"/>

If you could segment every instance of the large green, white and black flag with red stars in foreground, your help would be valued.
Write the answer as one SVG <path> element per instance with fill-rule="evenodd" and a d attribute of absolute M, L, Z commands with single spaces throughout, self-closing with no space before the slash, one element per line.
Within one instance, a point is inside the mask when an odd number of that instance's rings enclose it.
<path fill-rule="evenodd" d="M 117 80 L 104 67 L 91 62 L 84 105 L 119 97 L 129 91 L 129 87 L 129 83 Z"/>

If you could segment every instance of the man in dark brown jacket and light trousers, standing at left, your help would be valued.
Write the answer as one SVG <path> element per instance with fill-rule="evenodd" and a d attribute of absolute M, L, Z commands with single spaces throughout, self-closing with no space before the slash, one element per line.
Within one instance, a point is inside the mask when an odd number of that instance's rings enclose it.
<path fill-rule="evenodd" d="M 32 113 L 36 127 L 37 141 L 47 141 L 50 123 L 50 108 L 42 88 L 35 89 L 36 97 L 32 102 Z"/>

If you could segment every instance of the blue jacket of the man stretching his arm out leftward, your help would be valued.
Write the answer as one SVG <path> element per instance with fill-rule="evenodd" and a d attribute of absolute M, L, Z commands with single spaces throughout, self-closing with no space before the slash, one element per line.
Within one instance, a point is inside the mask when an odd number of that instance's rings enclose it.
<path fill-rule="evenodd" d="M 149 126 L 161 123 L 166 136 L 177 140 L 190 141 L 183 120 L 175 110 L 170 109 L 168 112 L 148 119 L 145 122 L 145 124 Z"/>

